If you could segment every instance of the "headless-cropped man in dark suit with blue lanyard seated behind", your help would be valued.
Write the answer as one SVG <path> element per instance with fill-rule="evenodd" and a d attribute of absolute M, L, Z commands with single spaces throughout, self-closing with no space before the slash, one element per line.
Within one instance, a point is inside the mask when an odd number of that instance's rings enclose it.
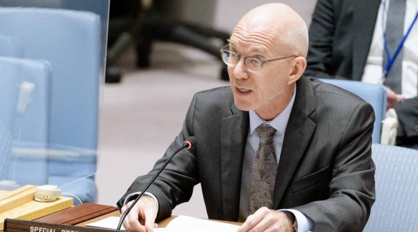
<path fill-rule="evenodd" d="M 403 4 L 403 11 L 395 8 L 392 12 L 391 8 L 398 3 Z M 417 14 L 416 0 L 318 0 L 309 28 L 304 73 L 372 84 L 384 81 L 387 116 L 394 116 L 399 122 L 396 145 L 415 149 L 418 149 L 418 22 L 414 21 Z M 400 22 L 393 22 L 396 17 Z M 389 21 L 401 30 L 392 39 L 392 46 L 391 37 L 397 32 L 389 28 Z M 405 36 L 408 29 L 410 33 Z M 395 56 L 398 47 L 400 52 Z M 385 69 L 388 76 L 382 79 Z"/>

